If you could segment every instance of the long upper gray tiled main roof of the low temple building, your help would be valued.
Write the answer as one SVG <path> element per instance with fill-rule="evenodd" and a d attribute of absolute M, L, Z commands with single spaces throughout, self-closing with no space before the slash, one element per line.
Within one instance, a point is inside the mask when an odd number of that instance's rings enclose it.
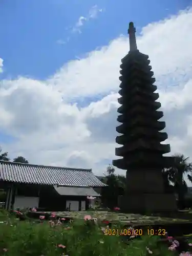
<path fill-rule="evenodd" d="M 0 161 L 0 181 L 28 184 L 89 186 L 104 184 L 91 169 L 76 169 Z"/>

